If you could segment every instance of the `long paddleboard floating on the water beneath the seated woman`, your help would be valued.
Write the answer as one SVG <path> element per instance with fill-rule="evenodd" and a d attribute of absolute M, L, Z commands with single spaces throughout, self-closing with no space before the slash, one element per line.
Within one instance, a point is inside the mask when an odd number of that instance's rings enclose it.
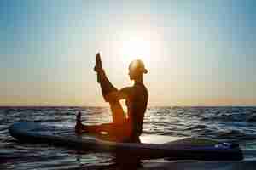
<path fill-rule="evenodd" d="M 57 127 L 38 122 L 16 122 L 9 133 L 20 142 L 53 144 L 76 150 L 123 153 L 140 159 L 239 161 L 243 159 L 238 144 L 218 143 L 207 139 L 142 135 L 141 143 L 118 143 L 102 138 L 104 134 L 77 135 L 71 127 Z"/>

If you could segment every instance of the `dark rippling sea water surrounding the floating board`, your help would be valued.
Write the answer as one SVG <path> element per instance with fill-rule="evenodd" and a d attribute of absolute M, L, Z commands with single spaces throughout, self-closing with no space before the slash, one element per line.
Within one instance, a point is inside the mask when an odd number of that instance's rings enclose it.
<path fill-rule="evenodd" d="M 108 153 L 83 152 L 47 144 L 20 144 L 9 135 L 8 127 L 14 122 L 74 127 L 78 111 L 82 112 L 86 124 L 111 122 L 107 107 L 0 108 L 0 169 L 119 169 L 114 157 Z M 150 107 L 145 115 L 143 134 L 234 141 L 246 150 L 247 158 L 230 164 L 143 161 L 145 166 L 140 169 L 254 169 L 256 166 L 256 107 Z"/>

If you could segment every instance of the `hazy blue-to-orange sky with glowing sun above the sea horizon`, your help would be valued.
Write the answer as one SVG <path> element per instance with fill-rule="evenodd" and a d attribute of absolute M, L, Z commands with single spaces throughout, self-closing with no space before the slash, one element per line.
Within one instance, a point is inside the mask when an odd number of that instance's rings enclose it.
<path fill-rule="evenodd" d="M 148 105 L 256 105 L 256 2 L 0 2 L 0 105 L 108 105 L 143 59 Z"/>

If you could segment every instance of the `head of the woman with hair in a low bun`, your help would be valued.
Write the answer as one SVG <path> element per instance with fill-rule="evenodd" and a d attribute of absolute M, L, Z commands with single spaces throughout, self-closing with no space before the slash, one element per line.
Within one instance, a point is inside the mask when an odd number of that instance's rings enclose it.
<path fill-rule="evenodd" d="M 131 80 L 135 80 L 142 77 L 143 74 L 147 74 L 148 70 L 145 69 L 145 65 L 142 60 L 136 59 L 131 61 L 129 65 L 129 76 Z"/>

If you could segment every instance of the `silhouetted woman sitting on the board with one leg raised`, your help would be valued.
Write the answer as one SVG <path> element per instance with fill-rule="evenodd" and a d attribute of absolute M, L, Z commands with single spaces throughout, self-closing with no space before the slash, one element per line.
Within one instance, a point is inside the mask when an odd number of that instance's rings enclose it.
<path fill-rule="evenodd" d="M 83 125 L 81 123 L 81 113 L 77 116 L 75 127 L 76 133 L 102 133 L 106 132 L 116 141 L 140 142 L 139 136 L 143 130 L 143 119 L 148 104 L 148 90 L 143 84 L 143 74 L 148 71 L 145 69 L 142 60 L 133 60 L 129 65 L 129 76 L 134 81 L 133 86 L 118 90 L 114 88 L 105 71 L 102 69 L 100 54 L 96 54 L 97 81 L 102 88 L 102 95 L 109 103 L 113 122 L 101 125 Z M 120 99 L 125 99 L 127 105 L 127 116 L 119 103 Z"/>

